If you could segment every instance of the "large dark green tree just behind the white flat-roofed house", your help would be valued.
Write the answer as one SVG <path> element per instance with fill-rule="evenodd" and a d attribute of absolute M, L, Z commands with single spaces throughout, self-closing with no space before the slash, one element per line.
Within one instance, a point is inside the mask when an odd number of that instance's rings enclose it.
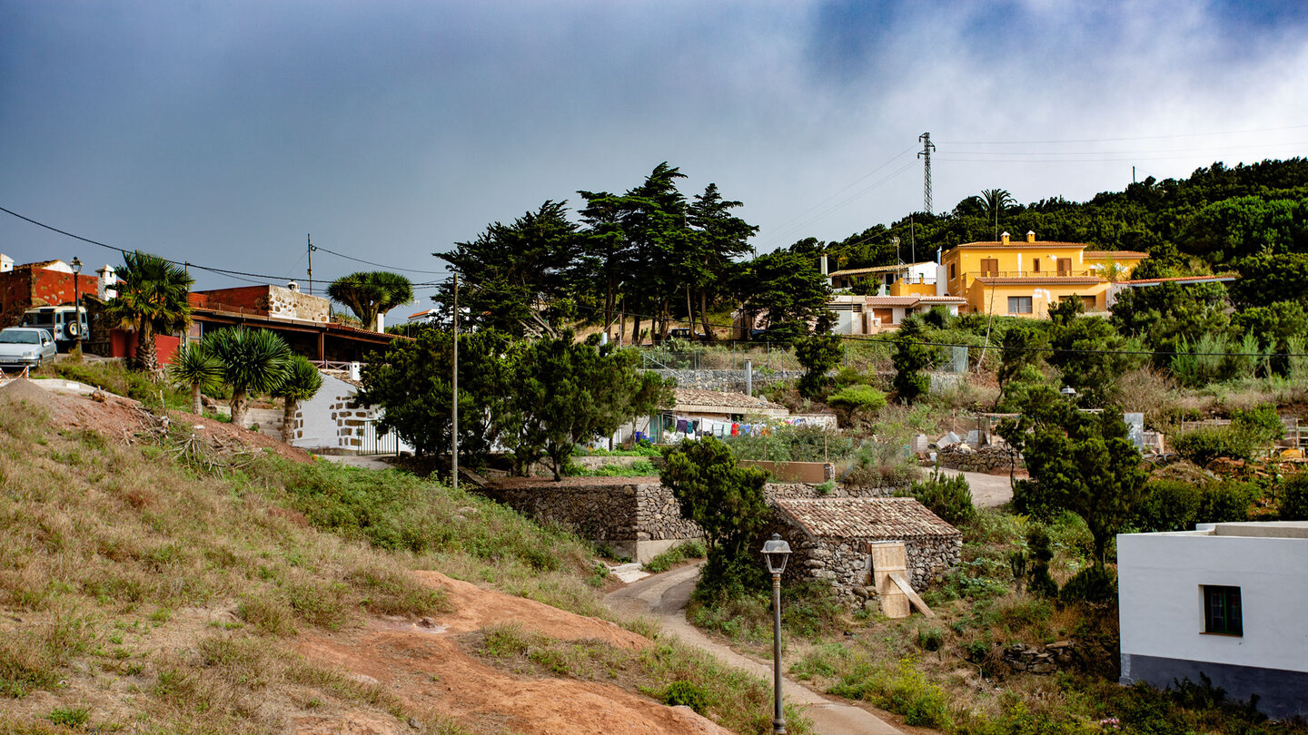
<path fill-rule="evenodd" d="M 998 433 L 1022 453 L 1031 472 L 1029 480 L 1014 485 L 1014 509 L 1040 518 L 1059 510 L 1080 515 L 1101 564 L 1108 541 L 1133 518 L 1148 479 L 1121 412 L 1076 411 L 1052 387 L 1042 387 L 1032 391 L 1022 417 L 1001 422 Z"/>

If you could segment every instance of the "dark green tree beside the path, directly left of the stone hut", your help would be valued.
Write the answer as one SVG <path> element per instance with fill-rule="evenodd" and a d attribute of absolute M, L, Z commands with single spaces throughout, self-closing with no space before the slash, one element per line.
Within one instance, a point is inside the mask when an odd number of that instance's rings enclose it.
<path fill-rule="evenodd" d="M 768 473 L 736 467 L 727 445 L 713 437 L 685 439 L 663 456 L 659 481 L 672 490 L 681 518 L 704 530 L 709 547 L 696 594 L 722 599 L 755 586 L 761 573 L 751 541 L 768 521 Z"/>

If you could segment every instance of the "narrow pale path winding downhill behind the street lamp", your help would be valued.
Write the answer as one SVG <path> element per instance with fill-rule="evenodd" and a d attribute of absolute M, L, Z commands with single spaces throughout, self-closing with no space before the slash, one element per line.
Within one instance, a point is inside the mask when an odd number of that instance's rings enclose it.
<path fill-rule="evenodd" d="M 664 630 L 687 643 L 770 681 L 772 662 L 763 663 L 742 655 L 685 621 L 685 603 L 691 599 L 698 574 L 698 566 L 683 566 L 646 577 L 610 592 L 604 602 L 615 611 L 628 615 L 653 615 L 663 624 Z M 785 679 L 782 693 L 787 702 L 803 708 L 804 715 L 814 721 L 814 728 L 821 735 L 904 735 L 870 711 L 828 700 L 789 677 Z"/>

